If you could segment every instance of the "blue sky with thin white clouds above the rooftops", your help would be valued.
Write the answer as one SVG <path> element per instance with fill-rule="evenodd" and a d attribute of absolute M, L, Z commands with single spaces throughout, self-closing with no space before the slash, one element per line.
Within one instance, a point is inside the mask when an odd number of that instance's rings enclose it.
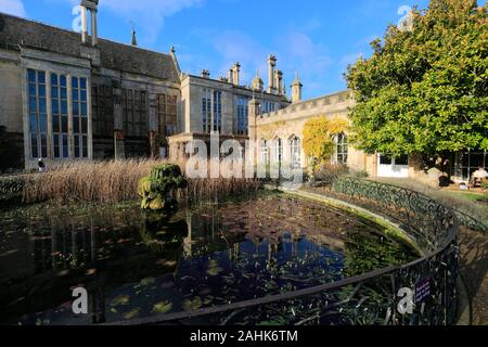
<path fill-rule="evenodd" d="M 485 4 L 486 1 L 478 1 Z M 77 0 L 0 0 L 0 11 L 70 29 Z M 176 47 L 181 68 L 227 75 L 234 62 L 249 83 L 259 69 L 267 83 L 267 56 L 290 83 L 298 70 L 304 97 L 346 88 L 343 73 L 369 42 L 397 24 L 401 7 L 428 0 L 100 0 L 99 36 L 129 43 L 131 22 L 139 46 L 159 52 Z M 400 12 L 400 13 L 399 13 Z"/>

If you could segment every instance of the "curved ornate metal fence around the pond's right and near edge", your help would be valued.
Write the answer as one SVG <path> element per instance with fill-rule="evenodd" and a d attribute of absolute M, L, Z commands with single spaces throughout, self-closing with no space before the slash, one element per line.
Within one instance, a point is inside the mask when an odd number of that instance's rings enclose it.
<path fill-rule="evenodd" d="M 335 181 L 331 194 L 400 223 L 422 250 L 421 258 L 300 291 L 115 324 L 453 324 L 459 260 L 454 213 L 421 193 L 355 178 Z"/>

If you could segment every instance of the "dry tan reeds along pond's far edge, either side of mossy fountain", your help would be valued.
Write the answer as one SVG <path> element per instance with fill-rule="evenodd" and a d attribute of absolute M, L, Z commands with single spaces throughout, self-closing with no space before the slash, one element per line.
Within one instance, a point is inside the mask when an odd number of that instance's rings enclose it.
<path fill-rule="evenodd" d="M 139 200 L 138 182 L 151 168 L 162 164 L 152 159 L 78 162 L 52 168 L 44 174 L 28 175 L 24 184 L 24 203 L 116 203 Z M 190 179 L 182 197 L 190 202 L 224 197 L 257 191 L 254 179 Z"/>

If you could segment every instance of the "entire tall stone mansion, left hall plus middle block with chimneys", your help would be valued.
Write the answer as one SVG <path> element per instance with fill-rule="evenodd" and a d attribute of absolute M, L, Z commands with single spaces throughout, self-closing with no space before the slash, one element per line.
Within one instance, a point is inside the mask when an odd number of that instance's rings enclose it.
<path fill-rule="evenodd" d="M 210 133 L 247 139 L 253 97 L 262 113 L 290 104 L 272 55 L 267 90 L 242 86 L 239 63 L 227 77 L 192 76 L 174 49 L 137 47 L 134 31 L 132 44 L 99 38 L 97 14 L 98 1 L 82 0 L 77 34 L 0 13 L 0 133 L 16 158 L 8 167 L 178 157 Z"/>

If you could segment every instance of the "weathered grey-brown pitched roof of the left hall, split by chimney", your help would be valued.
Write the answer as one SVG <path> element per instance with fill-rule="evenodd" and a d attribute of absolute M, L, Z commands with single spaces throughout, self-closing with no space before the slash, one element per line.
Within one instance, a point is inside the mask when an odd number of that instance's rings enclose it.
<path fill-rule="evenodd" d="M 47 24 L 0 13 L 0 48 L 28 47 L 80 56 L 80 35 Z M 99 39 L 101 64 L 105 68 L 179 82 L 171 55 Z"/>

